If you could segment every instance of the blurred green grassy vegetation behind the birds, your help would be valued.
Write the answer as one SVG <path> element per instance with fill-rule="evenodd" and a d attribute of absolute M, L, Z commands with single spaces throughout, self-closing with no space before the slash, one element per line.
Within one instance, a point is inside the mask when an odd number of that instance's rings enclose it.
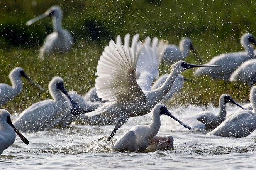
<path fill-rule="evenodd" d="M 63 9 L 63 27 L 69 30 L 75 45 L 68 54 L 56 54 L 44 61 L 38 50 L 52 32 L 51 19 L 46 18 L 27 27 L 25 22 L 45 12 L 51 5 Z M 139 33 L 178 44 L 190 37 L 205 62 L 224 52 L 243 50 L 239 40 L 245 32 L 256 36 L 256 3 L 245 0 L 8 0 L 0 2 L 0 80 L 10 84 L 9 72 L 22 67 L 44 89 L 54 76 L 61 76 L 68 90 L 85 94 L 94 86 L 97 61 L 105 45 L 119 34 Z M 198 63 L 192 54 L 185 60 Z M 201 63 L 202 64 L 202 63 Z M 161 65 L 161 74 L 170 66 Z M 186 82 L 180 94 L 167 104 L 218 103 L 222 93 L 229 93 L 238 102 L 249 99 L 249 87 L 234 82 L 192 78 L 194 69 L 185 71 Z M 20 112 L 32 103 L 50 98 L 24 82 L 22 94 L 3 108 Z"/>

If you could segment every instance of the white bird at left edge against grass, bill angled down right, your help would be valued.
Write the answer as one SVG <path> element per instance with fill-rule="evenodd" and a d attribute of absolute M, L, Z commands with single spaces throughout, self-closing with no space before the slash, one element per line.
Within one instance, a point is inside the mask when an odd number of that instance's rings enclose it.
<path fill-rule="evenodd" d="M 4 105 L 7 101 L 10 101 L 15 96 L 20 94 L 22 90 L 21 77 L 25 77 L 29 82 L 36 85 L 41 91 L 44 91 L 44 89 L 42 89 L 41 86 L 36 84 L 25 74 L 22 68 L 15 67 L 9 74 L 12 86 L 5 83 L 0 83 L 0 106 Z"/>

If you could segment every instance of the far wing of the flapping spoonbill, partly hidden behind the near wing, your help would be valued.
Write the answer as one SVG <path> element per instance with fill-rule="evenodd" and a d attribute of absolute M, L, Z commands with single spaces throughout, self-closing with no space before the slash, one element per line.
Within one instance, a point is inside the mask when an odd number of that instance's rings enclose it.
<path fill-rule="evenodd" d="M 137 48 L 140 46 L 142 46 L 142 44 L 138 43 Z M 164 42 L 163 40 L 158 42 L 156 37 L 153 38 L 151 44 L 151 39 L 146 37 L 136 66 L 136 74 L 137 77 L 139 77 L 137 83 L 142 90 L 151 90 L 153 81 L 158 78 L 158 67 L 167 46 L 168 42 Z"/>

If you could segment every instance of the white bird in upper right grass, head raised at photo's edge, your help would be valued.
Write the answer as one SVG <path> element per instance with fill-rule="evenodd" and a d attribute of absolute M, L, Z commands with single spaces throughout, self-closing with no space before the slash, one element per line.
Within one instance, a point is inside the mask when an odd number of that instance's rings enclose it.
<path fill-rule="evenodd" d="M 240 39 L 241 45 L 245 51 L 224 53 L 213 57 L 206 64 L 222 65 L 222 68 L 198 68 L 193 76 L 209 75 L 214 79 L 229 80 L 231 74 L 245 61 L 253 59 L 253 48 L 251 43 L 256 44 L 252 34 L 245 33 Z"/>

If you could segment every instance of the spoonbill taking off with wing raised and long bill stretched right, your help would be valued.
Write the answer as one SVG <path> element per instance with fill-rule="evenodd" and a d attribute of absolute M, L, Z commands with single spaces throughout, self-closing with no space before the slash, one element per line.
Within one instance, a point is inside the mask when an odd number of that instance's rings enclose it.
<path fill-rule="evenodd" d="M 115 44 L 110 40 L 98 61 L 97 72 L 95 75 L 95 88 L 97 94 L 103 100 L 110 101 L 95 111 L 85 113 L 86 116 L 103 114 L 110 118 L 116 118 L 117 122 L 114 130 L 107 141 L 114 136 L 116 131 L 132 116 L 142 116 L 151 111 L 168 93 L 176 76 L 193 67 L 221 67 L 207 65 L 193 65 L 184 61 L 178 61 L 171 67 L 171 72 L 164 84 L 151 91 L 142 91 L 137 83 L 136 64 L 138 53 L 136 43 L 139 35 L 132 38 L 132 45 L 129 47 L 130 35 L 126 34 L 124 45 Z"/>

